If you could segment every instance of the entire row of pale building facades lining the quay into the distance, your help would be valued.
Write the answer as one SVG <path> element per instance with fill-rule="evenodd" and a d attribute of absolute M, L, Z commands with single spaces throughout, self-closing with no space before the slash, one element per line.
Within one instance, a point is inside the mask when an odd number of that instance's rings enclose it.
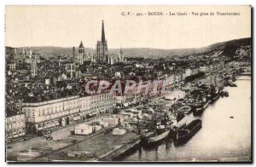
<path fill-rule="evenodd" d="M 186 69 L 184 72 L 177 72 L 175 74 L 161 74 L 158 73 L 157 93 L 163 87 L 163 82 L 166 82 L 165 89 L 175 89 L 179 83 L 183 83 L 184 78 L 194 75 L 197 72 L 208 72 L 211 67 L 200 67 L 195 69 Z M 137 94 L 138 84 L 134 89 L 129 89 L 127 94 L 105 92 L 95 95 L 71 95 L 59 99 L 52 99 L 49 101 L 32 101 L 22 103 L 22 112 L 20 116 L 7 117 L 7 133 L 15 135 L 16 132 L 20 134 L 38 133 L 40 130 L 54 128 L 56 126 L 65 126 L 73 124 L 74 122 L 84 121 L 91 116 L 99 115 L 105 112 L 112 112 L 113 107 L 128 107 L 129 104 L 141 101 L 145 95 L 156 95 L 154 92 L 154 81 L 147 81 L 143 84 L 148 84 L 147 87 L 141 89 L 140 94 Z M 146 92 L 148 91 L 148 92 Z M 154 94 L 153 94 L 154 92 Z M 17 130 L 17 120 L 22 120 L 23 130 Z M 26 128 L 25 128 L 26 127 Z"/>

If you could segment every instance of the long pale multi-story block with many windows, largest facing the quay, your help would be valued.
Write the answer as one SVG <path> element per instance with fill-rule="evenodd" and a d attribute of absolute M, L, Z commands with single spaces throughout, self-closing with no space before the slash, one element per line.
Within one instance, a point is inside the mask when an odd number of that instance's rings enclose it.
<path fill-rule="evenodd" d="M 87 118 L 87 114 L 99 115 L 112 112 L 114 96 L 110 93 L 69 96 L 51 101 L 23 103 L 26 129 L 29 132 L 65 126 Z"/>

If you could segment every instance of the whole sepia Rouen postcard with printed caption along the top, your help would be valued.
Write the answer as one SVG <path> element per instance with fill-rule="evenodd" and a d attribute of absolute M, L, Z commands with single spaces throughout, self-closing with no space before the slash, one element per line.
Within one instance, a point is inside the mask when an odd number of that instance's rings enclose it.
<path fill-rule="evenodd" d="M 252 162 L 251 6 L 5 6 L 7 162 Z"/>

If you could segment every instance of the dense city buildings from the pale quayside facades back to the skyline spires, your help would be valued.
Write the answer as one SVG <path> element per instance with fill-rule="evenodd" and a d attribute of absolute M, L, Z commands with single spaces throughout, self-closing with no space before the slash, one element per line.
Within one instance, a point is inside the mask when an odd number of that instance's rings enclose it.
<path fill-rule="evenodd" d="M 7 114 L 6 117 L 6 132 L 10 138 L 84 121 L 104 112 L 112 112 L 116 106 L 128 107 L 130 104 L 142 101 L 147 95 L 159 94 L 163 89 L 164 81 L 166 81 L 166 89 L 175 89 L 186 77 L 197 72 L 208 72 L 212 68 L 200 66 L 196 62 L 192 63 L 193 66 L 189 63 L 181 66 L 186 60 L 173 60 L 168 63 L 167 60 L 134 58 L 126 62 L 122 49 L 119 55 L 109 55 L 103 21 L 102 39 L 96 43 L 95 55 L 85 54 L 84 43 L 81 42 L 78 54 L 73 47 L 72 58 L 52 56 L 49 59 L 44 56 L 39 57 L 32 53 L 31 49 L 23 49 L 21 54 L 15 49 L 14 58 L 9 56 L 9 60 L 6 108 L 15 110 L 15 107 L 19 106 L 18 112 Z M 93 63 L 87 65 L 85 61 Z M 118 64 L 109 66 L 114 63 Z M 194 66 L 195 64 L 198 66 Z M 85 69 L 84 72 L 82 68 Z M 29 72 L 32 77 L 28 75 Z M 123 92 L 81 94 L 80 83 L 90 79 L 112 81 L 132 79 L 137 83 L 143 81 L 143 84 L 147 84 L 149 80 L 150 84 L 139 94 L 136 93 L 138 85 L 126 95 Z M 160 81 L 156 88 L 157 93 L 154 92 L 155 80 Z"/>

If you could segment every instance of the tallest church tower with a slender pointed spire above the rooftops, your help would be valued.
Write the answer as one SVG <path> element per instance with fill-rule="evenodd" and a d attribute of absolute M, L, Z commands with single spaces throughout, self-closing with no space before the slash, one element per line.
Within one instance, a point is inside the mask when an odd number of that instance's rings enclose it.
<path fill-rule="evenodd" d="M 102 20 L 102 41 L 96 44 L 96 63 L 108 63 L 108 43 L 105 37 L 104 21 Z"/>

